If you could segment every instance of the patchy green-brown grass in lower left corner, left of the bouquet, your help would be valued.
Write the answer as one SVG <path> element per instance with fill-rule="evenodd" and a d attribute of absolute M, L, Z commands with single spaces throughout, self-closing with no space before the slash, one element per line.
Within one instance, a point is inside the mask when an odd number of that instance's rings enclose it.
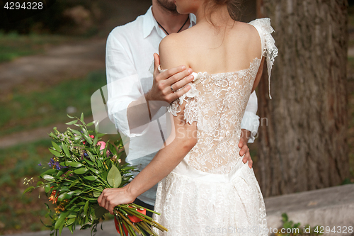
<path fill-rule="evenodd" d="M 50 159 L 50 140 L 0 149 L 0 235 L 13 230 L 44 230 L 39 218 L 46 213 L 45 194 L 39 191 L 24 195 L 23 178 L 38 176 Z M 42 167 L 38 164 L 42 162 Z"/>

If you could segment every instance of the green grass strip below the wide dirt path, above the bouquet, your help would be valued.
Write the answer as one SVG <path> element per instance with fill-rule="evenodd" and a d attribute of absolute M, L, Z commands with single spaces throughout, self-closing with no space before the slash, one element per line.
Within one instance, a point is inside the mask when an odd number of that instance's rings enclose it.
<path fill-rule="evenodd" d="M 0 101 L 0 136 L 21 130 L 45 127 L 68 120 L 67 107 L 91 116 L 91 96 L 106 84 L 105 72 L 91 72 L 84 79 L 71 79 L 40 91 L 16 89 L 9 99 Z"/>

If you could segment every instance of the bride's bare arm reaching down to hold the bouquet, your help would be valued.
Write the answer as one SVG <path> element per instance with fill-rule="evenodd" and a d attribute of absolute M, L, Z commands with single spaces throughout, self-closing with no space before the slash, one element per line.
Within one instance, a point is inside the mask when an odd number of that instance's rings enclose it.
<path fill-rule="evenodd" d="M 173 59 L 171 58 L 171 55 L 176 55 L 173 52 L 171 53 L 171 48 L 173 47 L 159 48 L 161 66 L 164 69 L 172 68 L 175 63 L 181 64 L 176 60 L 176 56 Z M 151 189 L 161 179 L 164 179 L 194 147 L 197 143 L 197 123 L 193 122 L 189 124 L 185 122 L 184 106 L 185 102 L 181 105 L 182 111 L 177 113 L 177 116 L 172 116 L 169 113 L 171 118 L 171 135 L 167 138 L 165 147 L 157 152 L 152 162 L 130 184 L 119 189 L 105 189 L 98 198 L 100 206 L 109 210 L 112 214 L 115 206 L 131 203 L 137 196 Z"/>

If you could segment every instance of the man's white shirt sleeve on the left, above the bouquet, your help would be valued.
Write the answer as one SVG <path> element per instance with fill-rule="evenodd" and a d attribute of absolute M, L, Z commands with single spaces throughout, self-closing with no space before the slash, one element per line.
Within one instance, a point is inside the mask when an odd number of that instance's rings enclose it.
<path fill-rule="evenodd" d="M 132 58 L 113 32 L 108 36 L 105 55 L 108 116 L 115 128 L 127 137 L 144 135 L 149 123 L 130 130 L 127 118 L 127 107 L 143 96 L 144 91 Z M 147 102 L 144 103 L 147 106 Z M 149 120 L 149 112 L 147 109 L 146 111 L 142 116 L 147 116 Z"/>

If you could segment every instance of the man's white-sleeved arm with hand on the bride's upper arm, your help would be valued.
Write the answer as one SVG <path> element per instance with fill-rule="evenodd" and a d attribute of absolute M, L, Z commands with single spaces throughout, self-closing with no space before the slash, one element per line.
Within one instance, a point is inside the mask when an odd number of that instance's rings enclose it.
<path fill-rule="evenodd" d="M 108 84 L 108 115 L 120 132 L 128 137 L 143 135 L 151 118 L 161 106 L 187 92 L 188 86 L 177 93 L 173 90 L 188 84 L 192 73 L 183 67 L 170 69 L 159 74 L 159 56 L 155 57 L 155 72 L 152 89 L 144 94 L 142 85 L 127 49 L 122 46 L 114 33 L 110 33 L 106 47 L 106 73 Z"/>

